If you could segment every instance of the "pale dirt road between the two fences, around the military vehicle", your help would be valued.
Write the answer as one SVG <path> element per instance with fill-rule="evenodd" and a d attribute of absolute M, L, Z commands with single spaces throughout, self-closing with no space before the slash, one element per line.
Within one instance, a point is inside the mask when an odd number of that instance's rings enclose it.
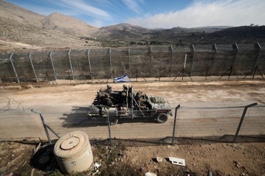
<path fill-rule="evenodd" d="M 123 83 L 112 83 L 111 85 L 114 90 L 121 90 Z M 264 85 L 264 81 L 257 80 L 134 83 L 137 91 L 153 96 L 164 96 L 173 109 L 178 104 L 184 108 L 246 106 L 254 102 L 265 104 Z M 105 88 L 105 84 L 34 85 L 31 89 L 2 87 L 0 89 L 0 107 L 2 109 L 19 109 L 25 112 L 22 115 L 16 115 L 12 111 L 5 111 L 2 114 L 0 126 L 5 129 L 4 126 L 8 124 L 12 128 L 12 134 L 10 134 L 9 128 L 8 131 L 1 130 L 0 136 L 1 138 L 23 138 L 23 136 L 25 138 L 46 138 L 39 115 L 31 112 L 31 109 L 34 109 L 34 111 L 42 113 L 49 126 L 56 129 L 60 135 L 73 130 L 84 130 L 90 134 L 90 137 L 108 138 L 108 128 L 104 123 L 101 124 L 98 121 L 91 123 L 86 120 L 86 109 L 101 87 Z M 234 129 L 238 126 L 242 111 L 243 108 L 236 108 L 233 112 L 229 112 L 228 117 L 218 112 L 210 114 L 215 116 L 214 119 L 207 117 L 205 111 L 186 115 L 182 113 L 179 118 L 184 118 L 184 120 L 179 120 L 177 123 L 177 136 L 184 134 L 186 136 L 195 134 L 197 136 L 234 135 L 236 131 Z M 187 120 L 187 117 L 190 119 Z M 261 119 L 251 119 L 251 121 L 251 126 L 257 126 L 257 132 L 260 130 L 262 133 L 265 128 L 264 122 Z M 207 130 L 205 130 L 205 126 L 208 127 Z M 191 127 L 192 130 L 187 130 Z M 163 124 L 119 123 L 112 127 L 112 137 L 166 138 L 172 136 L 172 129 L 173 117 Z"/>

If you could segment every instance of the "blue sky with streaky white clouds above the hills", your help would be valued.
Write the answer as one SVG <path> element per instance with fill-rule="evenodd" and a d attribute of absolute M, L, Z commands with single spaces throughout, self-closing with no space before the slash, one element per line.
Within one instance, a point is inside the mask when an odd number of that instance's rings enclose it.
<path fill-rule="evenodd" d="M 265 25 L 265 0 L 5 0 L 38 14 L 58 12 L 94 27 L 150 29 Z"/>

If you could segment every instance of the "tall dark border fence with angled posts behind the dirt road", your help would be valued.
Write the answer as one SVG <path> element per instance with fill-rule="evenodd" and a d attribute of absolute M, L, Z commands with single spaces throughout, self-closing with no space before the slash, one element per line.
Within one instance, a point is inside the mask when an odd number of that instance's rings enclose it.
<path fill-rule="evenodd" d="M 133 81 L 139 78 L 174 81 L 181 77 L 184 80 L 184 76 L 264 78 L 262 45 L 257 42 L 1 53 L 0 83 L 58 79 L 93 83 L 124 74 Z"/>

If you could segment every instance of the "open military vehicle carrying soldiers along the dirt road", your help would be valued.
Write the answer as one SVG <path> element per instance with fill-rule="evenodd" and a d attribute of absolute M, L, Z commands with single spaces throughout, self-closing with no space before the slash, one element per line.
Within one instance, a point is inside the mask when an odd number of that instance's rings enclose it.
<path fill-rule="evenodd" d="M 171 106 L 162 97 L 153 97 L 142 92 L 136 92 L 134 87 L 123 85 L 123 91 L 100 89 L 91 106 L 88 107 L 88 117 L 101 122 L 115 125 L 118 121 L 156 121 L 164 123 L 168 115 L 173 115 Z"/>

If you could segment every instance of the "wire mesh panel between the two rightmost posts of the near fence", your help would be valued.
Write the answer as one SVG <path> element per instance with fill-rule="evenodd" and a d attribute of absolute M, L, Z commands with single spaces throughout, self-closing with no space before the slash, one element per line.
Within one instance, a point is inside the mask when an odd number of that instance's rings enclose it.
<path fill-rule="evenodd" d="M 234 135 L 244 107 L 179 108 L 177 137 L 211 137 Z"/>

